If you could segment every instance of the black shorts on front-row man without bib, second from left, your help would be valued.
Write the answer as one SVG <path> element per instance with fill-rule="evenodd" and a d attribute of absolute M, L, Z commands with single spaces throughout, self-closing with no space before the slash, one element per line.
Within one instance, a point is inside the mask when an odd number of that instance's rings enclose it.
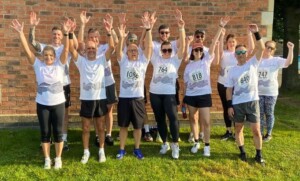
<path fill-rule="evenodd" d="M 107 113 L 106 99 L 81 100 L 80 116 L 85 118 L 101 117 Z"/>

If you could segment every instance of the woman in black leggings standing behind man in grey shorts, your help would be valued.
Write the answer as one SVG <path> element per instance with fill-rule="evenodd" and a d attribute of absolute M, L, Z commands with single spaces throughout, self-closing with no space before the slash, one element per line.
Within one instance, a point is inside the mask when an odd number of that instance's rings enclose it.
<path fill-rule="evenodd" d="M 228 75 L 228 71 L 231 67 L 237 65 L 237 60 L 235 58 L 235 47 L 237 45 L 237 40 L 234 34 L 228 34 L 226 36 L 225 44 L 226 48 L 223 49 L 223 42 L 225 36 L 225 29 L 222 31 L 220 36 L 220 46 L 219 46 L 219 53 L 220 53 L 220 72 L 218 77 L 218 93 L 222 102 L 223 107 L 223 118 L 226 126 L 226 133 L 222 135 L 222 140 L 227 140 L 228 138 L 233 138 L 232 134 L 232 121 L 228 116 L 228 107 L 227 107 L 227 100 L 226 100 L 226 79 Z M 247 30 L 247 38 L 248 38 L 248 52 L 252 52 L 254 49 L 254 41 L 251 31 Z"/>

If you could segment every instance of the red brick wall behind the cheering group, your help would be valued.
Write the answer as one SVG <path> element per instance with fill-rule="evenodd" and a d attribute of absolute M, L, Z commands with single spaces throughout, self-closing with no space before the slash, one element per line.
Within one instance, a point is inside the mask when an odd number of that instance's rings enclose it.
<path fill-rule="evenodd" d="M 160 24 L 168 24 L 171 29 L 171 39 L 177 36 L 174 10 L 180 9 L 186 22 L 186 32 L 193 34 L 198 29 L 207 32 L 206 45 L 218 28 L 219 19 L 230 15 L 232 20 L 226 26 L 227 32 L 234 33 L 240 43 L 246 43 L 246 26 L 249 23 L 261 22 L 261 13 L 269 11 L 268 0 L 1 0 L 0 1 L 0 84 L 2 85 L 2 105 L 0 115 L 4 114 L 34 114 L 36 84 L 33 68 L 27 62 L 16 32 L 9 27 L 12 19 L 24 22 L 24 32 L 28 36 L 29 14 L 35 11 L 41 18 L 36 28 L 36 39 L 40 42 L 50 42 L 51 28 L 59 25 L 64 16 L 75 17 L 79 23 L 79 14 L 86 10 L 92 16 L 88 27 L 98 27 L 104 33 L 101 20 L 106 13 L 114 17 L 114 27 L 117 26 L 117 13 L 126 12 L 129 31 L 141 34 L 139 17 L 145 10 L 157 11 L 158 21 L 154 27 L 153 37 L 158 37 L 157 28 Z M 263 36 L 267 34 L 266 26 L 260 26 Z M 77 32 L 76 32 L 77 33 Z M 182 86 L 184 66 L 180 67 L 179 78 Z M 79 75 L 75 65 L 71 64 L 72 107 L 71 112 L 77 113 L 79 104 Z M 113 60 L 113 72 L 119 90 L 119 67 Z M 218 67 L 212 67 L 211 80 L 213 88 L 212 111 L 221 111 L 222 107 L 216 89 Z M 152 76 L 152 66 L 147 72 L 147 87 Z M 1 95 L 1 94 L 0 94 Z M 151 111 L 149 104 L 147 110 Z"/>

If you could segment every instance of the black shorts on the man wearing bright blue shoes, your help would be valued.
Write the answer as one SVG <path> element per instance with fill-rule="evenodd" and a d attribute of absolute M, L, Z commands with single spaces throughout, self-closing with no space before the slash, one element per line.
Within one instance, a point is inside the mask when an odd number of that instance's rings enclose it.
<path fill-rule="evenodd" d="M 142 129 L 146 119 L 144 98 L 119 98 L 118 125 L 128 127 L 130 122 L 134 129 Z"/>

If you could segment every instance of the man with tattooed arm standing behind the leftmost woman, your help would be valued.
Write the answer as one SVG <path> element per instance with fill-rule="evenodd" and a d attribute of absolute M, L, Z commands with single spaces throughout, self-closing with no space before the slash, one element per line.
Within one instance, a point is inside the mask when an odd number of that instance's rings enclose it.
<path fill-rule="evenodd" d="M 43 52 L 43 49 L 50 45 L 54 48 L 55 53 L 57 57 L 59 57 L 62 53 L 62 50 L 64 49 L 64 45 L 62 44 L 63 39 L 63 33 L 60 27 L 54 26 L 52 28 L 52 37 L 51 37 L 51 43 L 50 44 L 44 44 L 40 43 L 35 40 L 35 28 L 39 24 L 40 19 L 36 17 L 35 12 L 30 13 L 30 31 L 29 31 L 29 42 L 32 45 L 32 47 L 41 54 Z M 76 36 L 73 34 L 74 39 L 74 46 L 77 47 L 77 39 Z M 64 65 L 64 95 L 66 98 L 65 102 L 65 116 L 64 116 L 64 125 L 63 125 L 63 140 L 64 140 L 64 151 L 69 150 L 68 142 L 67 142 L 67 136 L 68 136 L 68 123 L 69 123 L 69 107 L 71 106 L 71 79 L 69 75 L 69 67 L 70 67 L 70 57 L 68 58 L 67 63 Z"/>

